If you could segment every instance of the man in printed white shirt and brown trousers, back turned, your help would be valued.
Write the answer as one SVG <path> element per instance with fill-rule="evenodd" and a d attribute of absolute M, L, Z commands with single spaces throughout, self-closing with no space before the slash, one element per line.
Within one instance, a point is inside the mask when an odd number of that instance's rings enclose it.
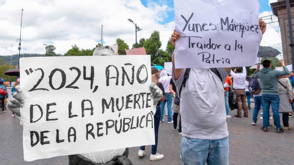
<path fill-rule="evenodd" d="M 235 117 L 242 117 L 242 105 L 244 110 L 244 117 L 248 117 L 248 107 L 246 104 L 246 91 L 245 91 L 245 79 L 246 79 L 246 68 L 237 67 L 235 72 L 231 71 L 231 75 L 234 79 L 234 89 L 238 98 L 238 110 Z"/>

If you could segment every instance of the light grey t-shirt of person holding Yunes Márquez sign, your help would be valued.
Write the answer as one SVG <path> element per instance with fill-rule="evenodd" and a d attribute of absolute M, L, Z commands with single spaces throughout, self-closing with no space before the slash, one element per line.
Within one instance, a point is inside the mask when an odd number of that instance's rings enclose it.
<path fill-rule="evenodd" d="M 172 76 L 178 91 L 185 70 L 178 80 Z M 223 82 L 210 69 L 191 68 L 180 98 L 182 131 L 185 137 L 210 140 L 228 137 L 223 84 L 229 73 L 225 68 L 217 70 Z"/>

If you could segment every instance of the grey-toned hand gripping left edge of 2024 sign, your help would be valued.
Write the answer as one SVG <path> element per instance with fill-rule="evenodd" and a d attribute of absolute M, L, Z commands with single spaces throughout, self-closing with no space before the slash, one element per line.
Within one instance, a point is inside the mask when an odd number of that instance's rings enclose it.
<path fill-rule="evenodd" d="M 21 95 L 21 87 L 19 85 L 15 86 L 16 92 L 12 95 L 12 97 L 8 100 L 7 108 L 10 109 L 16 116 L 21 116 L 20 107 L 23 107 L 23 103 L 25 101 L 22 99 Z"/>

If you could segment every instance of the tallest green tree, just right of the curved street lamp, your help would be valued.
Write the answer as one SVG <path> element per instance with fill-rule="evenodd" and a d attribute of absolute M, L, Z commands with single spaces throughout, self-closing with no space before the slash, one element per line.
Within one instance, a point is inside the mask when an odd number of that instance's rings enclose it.
<path fill-rule="evenodd" d="M 159 59 L 161 59 L 161 57 L 157 54 L 158 50 L 161 47 L 159 34 L 159 31 L 154 31 L 150 35 L 150 38 L 146 39 L 144 42 L 146 53 L 151 56 L 151 63 L 153 64 L 158 64 Z"/>

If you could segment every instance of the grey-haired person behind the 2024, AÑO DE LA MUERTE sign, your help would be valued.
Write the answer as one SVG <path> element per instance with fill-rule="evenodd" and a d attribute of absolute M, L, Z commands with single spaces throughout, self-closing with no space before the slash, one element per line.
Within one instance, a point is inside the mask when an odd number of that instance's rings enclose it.
<path fill-rule="evenodd" d="M 115 55 L 113 49 L 110 46 L 100 46 L 97 47 L 93 56 L 112 56 Z M 20 86 L 15 87 L 16 91 L 13 94 L 13 97 L 10 98 L 8 103 L 8 108 L 17 115 L 20 114 L 20 107 L 24 106 L 24 99 L 19 94 L 22 90 Z M 149 86 L 150 95 L 153 98 L 153 111 L 160 99 L 163 96 L 162 90 L 152 82 Z M 158 111 L 158 110 L 157 110 Z M 157 112 L 156 111 L 156 112 Z M 158 121 L 159 122 L 159 121 Z M 83 164 L 123 164 L 123 165 L 132 165 L 133 163 L 127 158 L 128 148 L 123 149 L 112 149 L 106 151 L 98 152 L 89 152 L 81 153 L 75 155 L 69 155 L 69 165 L 83 165 Z"/>

